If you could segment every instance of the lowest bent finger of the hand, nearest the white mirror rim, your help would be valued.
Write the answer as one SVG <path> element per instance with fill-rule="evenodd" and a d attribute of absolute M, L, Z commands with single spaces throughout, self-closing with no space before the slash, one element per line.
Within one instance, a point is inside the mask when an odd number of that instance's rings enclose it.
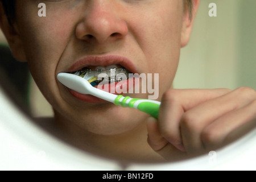
<path fill-rule="evenodd" d="M 242 137 L 255 127 L 256 100 L 211 123 L 201 134 L 201 140 L 208 151 L 215 150 Z"/>

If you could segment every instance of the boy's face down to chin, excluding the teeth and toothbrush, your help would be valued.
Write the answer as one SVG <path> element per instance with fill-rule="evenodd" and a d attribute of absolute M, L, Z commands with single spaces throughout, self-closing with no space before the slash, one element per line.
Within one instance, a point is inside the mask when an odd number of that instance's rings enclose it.
<path fill-rule="evenodd" d="M 67 118 L 96 134 L 134 129 L 147 117 L 108 102 L 89 103 L 57 81 L 61 72 L 82 67 L 122 65 L 135 73 L 159 73 L 159 98 L 170 89 L 184 35 L 183 1 L 63 0 L 17 1 L 15 27 L 32 76 L 57 118 Z M 153 83 L 154 85 L 154 83 Z M 147 98 L 147 94 L 123 94 Z M 79 97 L 80 99 L 78 99 Z M 90 100 L 90 99 L 89 99 Z"/>

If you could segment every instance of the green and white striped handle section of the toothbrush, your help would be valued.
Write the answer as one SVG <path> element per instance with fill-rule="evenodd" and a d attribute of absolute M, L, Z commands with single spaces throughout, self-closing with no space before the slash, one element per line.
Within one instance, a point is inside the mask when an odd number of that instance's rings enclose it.
<path fill-rule="evenodd" d="M 115 105 L 122 107 L 130 107 L 143 111 L 144 113 L 150 114 L 152 117 L 158 119 L 158 111 L 160 107 L 160 102 L 153 100 L 146 100 L 141 98 L 130 98 L 118 96 L 115 99 Z"/>

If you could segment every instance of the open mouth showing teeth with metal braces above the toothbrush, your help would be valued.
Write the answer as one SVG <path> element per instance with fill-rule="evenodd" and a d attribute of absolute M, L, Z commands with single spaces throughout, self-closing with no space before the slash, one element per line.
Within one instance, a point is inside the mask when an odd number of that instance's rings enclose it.
<path fill-rule="evenodd" d="M 126 68 L 116 64 L 108 67 L 85 67 L 72 72 L 73 75 L 85 78 L 92 86 L 125 81 L 129 78 L 130 73 Z"/>

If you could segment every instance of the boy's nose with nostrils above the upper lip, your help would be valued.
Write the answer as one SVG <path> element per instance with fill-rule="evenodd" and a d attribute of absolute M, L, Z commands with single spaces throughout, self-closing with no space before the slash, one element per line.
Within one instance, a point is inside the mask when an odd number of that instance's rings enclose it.
<path fill-rule="evenodd" d="M 92 0 L 86 4 L 83 18 L 77 24 L 76 36 L 89 43 L 105 43 L 121 39 L 128 34 L 117 2 Z"/>

